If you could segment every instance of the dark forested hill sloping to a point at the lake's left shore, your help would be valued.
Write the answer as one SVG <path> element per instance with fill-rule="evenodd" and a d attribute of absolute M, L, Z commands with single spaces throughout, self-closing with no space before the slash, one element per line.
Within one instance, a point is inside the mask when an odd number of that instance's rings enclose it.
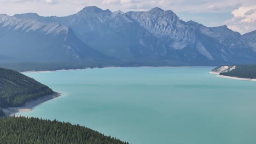
<path fill-rule="evenodd" d="M 22 106 L 48 94 L 53 90 L 42 83 L 18 71 L 0 68 L 0 107 Z"/>

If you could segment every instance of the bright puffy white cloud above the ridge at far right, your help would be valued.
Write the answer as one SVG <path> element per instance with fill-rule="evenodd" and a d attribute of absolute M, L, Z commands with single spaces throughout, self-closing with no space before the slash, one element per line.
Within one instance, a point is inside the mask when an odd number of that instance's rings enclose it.
<path fill-rule="evenodd" d="M 234 17 L 225 22 L 233 31 L 241 34 L 256 30 L 256 5 L 240 7 L 232 11 Z"/>

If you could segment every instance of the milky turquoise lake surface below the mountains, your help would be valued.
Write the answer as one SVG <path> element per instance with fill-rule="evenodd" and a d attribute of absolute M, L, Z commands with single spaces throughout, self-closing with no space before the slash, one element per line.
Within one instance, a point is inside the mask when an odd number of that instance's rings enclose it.
<path fill-rule="evenodd" d="M 130 143 L 255 144 L 256 82 L 212 67 L 25 73 L 62 96 L 18 115 L 71 122 Z"/>

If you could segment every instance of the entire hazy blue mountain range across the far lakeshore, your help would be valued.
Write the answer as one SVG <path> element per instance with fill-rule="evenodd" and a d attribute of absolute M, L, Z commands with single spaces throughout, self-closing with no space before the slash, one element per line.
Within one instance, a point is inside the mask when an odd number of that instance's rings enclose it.
<path fill-rule="evenodd" d="M 98 64 L 109 61 L 112 66 L 120 65 L 118 62 L 149 66 L 256 63 L 256 31 L 241 35 L 226 26 L 184 22 L 173 11 L 160 8 L 112 13 L 85 7 L 64 17 L 1 15 L 0 47 L 0 61 L 8 62 L 83 63 L 90 59 Z"/>

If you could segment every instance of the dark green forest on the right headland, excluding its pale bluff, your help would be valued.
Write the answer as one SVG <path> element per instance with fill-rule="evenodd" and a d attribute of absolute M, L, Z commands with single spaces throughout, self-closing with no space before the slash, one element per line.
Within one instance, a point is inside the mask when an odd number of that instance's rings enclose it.
<path fill-rule="evenodd" d="M 256 79 L 256 64 L 253 65 L 237 65 L 235 69 L 220 75 L 241 77 L 246 79 Z"/>

